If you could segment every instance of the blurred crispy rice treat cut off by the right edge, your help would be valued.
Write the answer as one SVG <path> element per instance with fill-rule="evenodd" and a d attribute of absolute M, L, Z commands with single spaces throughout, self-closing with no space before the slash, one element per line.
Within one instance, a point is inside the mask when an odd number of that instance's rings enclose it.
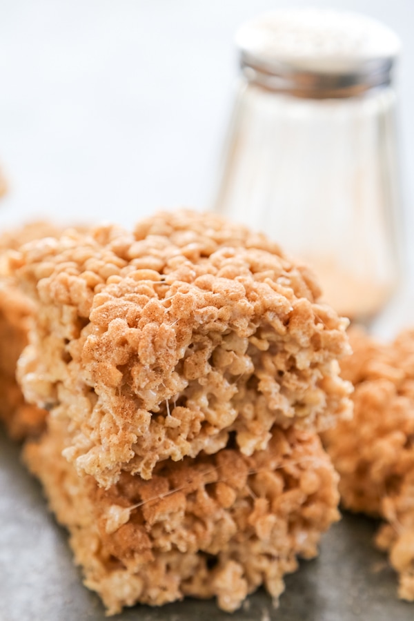
<path fill-rule="evenodd" d="M 414 600 L 414 331 L 389 345 L 351 333 L 342 362 L 355 384 L 353 420 L 324 441 L 341 477 L 347 509 L 382 517 L 376 542 L 400 574 L 399 595 Z"/>

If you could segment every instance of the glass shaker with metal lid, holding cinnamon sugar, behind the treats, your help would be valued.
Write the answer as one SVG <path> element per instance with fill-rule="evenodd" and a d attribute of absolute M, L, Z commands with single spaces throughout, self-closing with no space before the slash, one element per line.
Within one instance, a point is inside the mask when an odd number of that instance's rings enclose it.
<path fill-rule="evenodd" d="M 391 72 L 397 36 L 358 14 L 278 10 L 237 32 L 242 79 L 215 210 L 313 267 L 342 315 L 400 282 Z"/>

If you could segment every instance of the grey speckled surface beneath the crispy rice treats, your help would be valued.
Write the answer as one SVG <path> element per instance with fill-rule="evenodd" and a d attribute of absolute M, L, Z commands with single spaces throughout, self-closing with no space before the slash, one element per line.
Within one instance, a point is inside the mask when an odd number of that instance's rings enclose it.
<path fill-rule="evenodd" d="M 81 584 L 66 532 L 48 512 L 41 488 L 0 433 L 0 620 L 98 621 L 103 607 Z M 264 591 L 229 615 L 214 602 L 184 600 L 160 609 L 137 606 L 119 621 L 408 621 L 414 604 L 397 600 L 395 573 L 374 549 L 376 523 L 344 515 L 323 539 L 321 555 L 286 578 L 274 609 Z"/>

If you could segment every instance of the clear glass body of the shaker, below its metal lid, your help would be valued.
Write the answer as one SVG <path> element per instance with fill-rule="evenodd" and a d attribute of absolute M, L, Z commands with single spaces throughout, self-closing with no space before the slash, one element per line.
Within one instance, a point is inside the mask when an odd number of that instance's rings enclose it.
<path fill-rule="evenodd" d="M 391 86 L 308 99 L 241 80 L 215 209 L 310 264 L 352 319 L 399 281 L 398 181 Z"/>

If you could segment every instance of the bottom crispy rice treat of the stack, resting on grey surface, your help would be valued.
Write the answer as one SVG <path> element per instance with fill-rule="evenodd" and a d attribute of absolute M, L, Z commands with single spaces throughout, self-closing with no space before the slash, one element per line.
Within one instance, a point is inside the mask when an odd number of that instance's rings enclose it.
<path fill-rule="evenodd" d="M 223 449 L 166 460 L 151 480 L 123 472 L 105 491 L 62 457 L 65 426 L 50 419 L 25 459 L 108 614 L 185 595 L 234 611 L 261 584 L 277 601 L 297 555 L 315 556 L 339 517 L 337 474 L 316 434 L 275 429 L 251 457 Z"/>

